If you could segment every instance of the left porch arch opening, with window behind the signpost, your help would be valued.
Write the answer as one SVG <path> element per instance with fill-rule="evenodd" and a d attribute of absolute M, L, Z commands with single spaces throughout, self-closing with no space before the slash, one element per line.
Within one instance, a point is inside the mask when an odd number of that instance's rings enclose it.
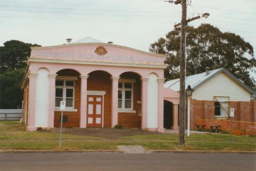
<path fill-rule="evenodd" d="M 81 103 L 81 75 L 73 69 L 62 69 L 55 80 L 54 127 L 60 127 L 60 101 L 66 101 L 63 113 L 63 127 L 79 127 Z"/>

